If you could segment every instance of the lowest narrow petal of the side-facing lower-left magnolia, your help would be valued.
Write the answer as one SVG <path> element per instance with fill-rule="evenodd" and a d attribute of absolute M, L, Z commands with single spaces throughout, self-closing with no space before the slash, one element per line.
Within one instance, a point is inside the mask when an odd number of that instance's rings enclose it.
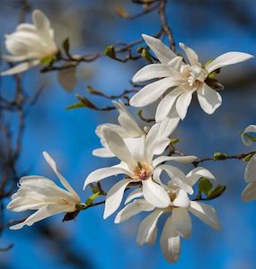
<path fill-rule="evenodd" d="M 49 204 L 47 206 L 42 207 L 39 211 L 36 213 L 31 214 L 30 217 L 28 217 L 25 221 L 22 223 L 13 225 L 10 227 L 11 230 L 19 230 L 22 229 L 23 226 L 31 226 L 37 221 L 41 221 L 43 219 L 48 218 L 49 216 L 55 215 L 57 213 L 63 213 L 66 212 L 66 206 L 61 204 Z"/>

